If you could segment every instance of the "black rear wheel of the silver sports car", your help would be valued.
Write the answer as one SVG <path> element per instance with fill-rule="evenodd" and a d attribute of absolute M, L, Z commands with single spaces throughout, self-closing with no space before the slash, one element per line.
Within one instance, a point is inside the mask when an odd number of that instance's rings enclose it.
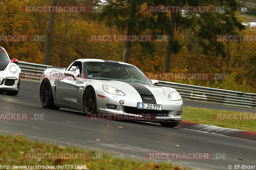
<path fill-rule="evenodd" d="M 44 108 L 50 108 L 55 110 L 60 109 L 60 107 L 54 106 L 53 97 L 52 97 L 52 87 L 49 80 L 44 80 L 40 88 L 40 100 L 41 100 L 41 105 Z"/>

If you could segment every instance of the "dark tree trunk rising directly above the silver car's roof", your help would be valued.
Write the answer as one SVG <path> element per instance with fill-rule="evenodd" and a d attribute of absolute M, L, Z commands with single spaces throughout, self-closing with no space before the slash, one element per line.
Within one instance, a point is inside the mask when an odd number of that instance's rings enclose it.
<path fill-rule="evenodd" d="M 131 13 L 129 16 L 129 21 L 127 24 L 127 33 L 126 35 L 132 35 L 134 33 L 134 25 L 135 25 L 135 15 L 137 11 L 137 0 L 133 0 L 131 4 Z M 124 45 L 124 53 L 123 53 L 123 62 L 128 62 L 130 56 L 131 56 L 131 50 L 132 50 L 132 42 L 125 42 Z"/>

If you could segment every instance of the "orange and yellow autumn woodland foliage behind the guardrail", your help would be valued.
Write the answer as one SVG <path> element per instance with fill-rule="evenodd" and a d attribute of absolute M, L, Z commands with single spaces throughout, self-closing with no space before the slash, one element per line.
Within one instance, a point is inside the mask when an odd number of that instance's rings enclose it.
<path fill-rule="evenodd" d="M 140 34 L 166 34 L 168 25 L 164 26 L 165 15 L 152 14 L 145 10 L 148 1 L 143 1 L 140 17 L 144 18 L 146 29 L 137 29 Z M 153 2 L 153 0 L 151 1 Z M 161 2 L 161 1 L 159 1 Z M 93 1 L 58 1 L 58 5 L 95 6 Z M 22 6 L 49 6 L 48 0 L 2 0 L 0 1 L 0 35 L 47 35 L 49 13 L 26 13 Z M 138 5 L 138 4 L 137 4 Z M 232 8 L 236 9 L 236 6 Z M 238 9 L 237 9 L 238 10 Z M 234 10 L 233 10 L 234 11 Z M 256 30 L 241 26 L 244 18 L 238 12 L 234 15 L 239 20 L 236 26 L 228 30 L 230 34 L 255 35 Z M 124 42 L 91 42 L 88 35 L 125 34 L 127 29 L 118 29 L 116 25 L 106 25 L 99 22 L 100 13 L 56 13 L 54 30 L 51 40 L 51 55 L 49 64 L 67 67 L 78 58 L 99 58 L 122 61 Z M 225 14 L 200 14 L 190 18 L 177 14 L 170 58 L 170 73 L 227 73 L 225 80 L 166 80 L 191 85 L 222 88 L 243 92 L 256 92 L 256 44 L 255 42 L 213 42 L 213 34 L 222 34 L 226 28 L 225 22 L 233 22 Z M 211 19 L 220 19 L 220 30 L 212 29 Z M 219 17 L 219 18 L 218 18 Z M 111 20 L 111 18 L 107 18 Z M 105 20 L 104 20 L 105 21 Z M 150 22 L 151 21 L 151 24 Z M 162 22 L 162 23 L 161 23 Z M 179 23 L 181 22 L 181 23 Z M 201 23 L 201 24 L 200 24 Z M 162 25 L 160 25 L 162 24 Z M 215 28 L 218 24 L 215 23 Z M 170 25 L 170 23 L 169 23 Z M 138 26 L 140 27 L 140 26 Z M 224 30 L 227 31 L 227 30 Z M 206 33 L 208 32 L 208 33 Z M 225 32 L 226 33 L 226 32 Z M 224 34 L 225 34 L 224 33 Z M 20 61 L 42 63 L 44 42 L 5 42 L 0 41 L 11 58 Z M 133 42 L 128 62 L 136 65 L 144 72 L 163 73 L 166 63 L 168 42 Z M 176 51 L 175 51 L 176 50 Z M 175 52 L 174 52 L 175 51 Z"/>

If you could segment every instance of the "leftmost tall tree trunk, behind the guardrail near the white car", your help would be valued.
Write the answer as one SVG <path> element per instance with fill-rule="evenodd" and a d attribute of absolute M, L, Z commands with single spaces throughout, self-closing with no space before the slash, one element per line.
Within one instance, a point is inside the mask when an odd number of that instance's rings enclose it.
<path fill-rule="evenodd" d="M 57 0 L 52 0 L 52 6 L 56 6 Z M 52 34 L 54 27 L 55 13 L 49 14 L 48 28 L 47 28 L 47 40 L 44 44 L 44 58 L 43 64 L 50 64 L 51 46 L 52 46 Z"/>

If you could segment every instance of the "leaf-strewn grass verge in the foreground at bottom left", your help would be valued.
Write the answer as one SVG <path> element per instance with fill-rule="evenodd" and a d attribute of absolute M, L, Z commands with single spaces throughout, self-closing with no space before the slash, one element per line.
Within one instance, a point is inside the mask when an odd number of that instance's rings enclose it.
<path fill-rule="evenodd" d="M 54 144 L 48 144 L 45 142 L 30 141 L 22 136 L 6 136 L 0 135 L 0 165 L 11 166 L 55 166 L 58 165 L 73 165 L 73 168 L 64 169 L 75 169 L 74 165 L 86 165 L 86 170 L 186 170 L 182 166 L 173 166 L 170 163 L 160 162 L 154 163 L 150 161 L 130 160 L 123 158 L 116 158 L 110 154 L 96 153 L 95 151 L 88 151 L 79 149 L 76 147 L 64 147 Z M 90 157 L 87 160 L 78 159 L 25 159 L 26 153 L 88 153 Z M 96 158 L 96 155 L 102 154 L 102 159 L 91 159 Z M 23 156 L 24 157 L 23 157 Z M 3 168 L 4 169 L 4 168 Z M 17 169 L 17 168 L 16 168 Z M 20 168 L 26 169 L 26 168 Z M 31 168 L 27 168 L 31 169 Z M 60 168 L 59 168 L 60 169 Z M 76 168 L 83 169 L 83 168 Z"/>

